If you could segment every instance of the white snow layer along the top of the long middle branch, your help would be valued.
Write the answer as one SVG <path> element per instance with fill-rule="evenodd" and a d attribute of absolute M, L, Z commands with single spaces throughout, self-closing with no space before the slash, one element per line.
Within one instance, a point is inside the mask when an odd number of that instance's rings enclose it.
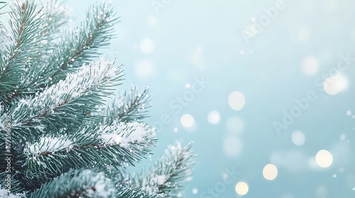
<path fill-rule="evenodd" d="M 89 66 L 83 64 L 77 73 L 68 74 L 64 81 L 61 80 L 46 88 L 43 93 L 35 98 L 22 99 L 21 103 L 18 103 L 18 106 L 11 110 L 11 114 L 14 115 L 20 110 L 28 113 L 16 116 L 16 119 L 11 120 L 12 126 L 26 124 L 29 119 L 50 112 L 68 100 L 89 94 L 90 91 L 99 86 L 113 83 L 111 81 L 112 75 L 117 71 L 113 65 L 114 62 L 104 61 L 103 59 L 100 59 L 99 62 L 92 62 Z M 1 119 L 4 119 L 3 115 Z M 32 120 L 32 122 L 34 121 Z M 40 122 L 40 120 L 37 120 L 37 122 Z"/>

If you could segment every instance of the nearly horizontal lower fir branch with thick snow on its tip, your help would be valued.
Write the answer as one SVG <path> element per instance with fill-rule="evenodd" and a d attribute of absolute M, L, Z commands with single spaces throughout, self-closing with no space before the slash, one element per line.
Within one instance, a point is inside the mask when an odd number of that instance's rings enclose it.
<path fill-rule="evenodd" d="M 28 181 L 24 182 L 36 187 L 70 168 L 134 165 L 154 145 L 155 129 L 138 122 L 114 122 L 67 136 L 44 136 L 26 143 L 22 168 Z"/>

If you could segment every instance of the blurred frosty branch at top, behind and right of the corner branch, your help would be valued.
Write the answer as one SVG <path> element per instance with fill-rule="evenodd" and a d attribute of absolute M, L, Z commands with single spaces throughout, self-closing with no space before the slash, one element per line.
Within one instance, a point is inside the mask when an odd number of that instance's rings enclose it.
<path fill-rule="evenodd" d="M 53 48 L 58 47 L 58 37 L 60 36 L 60 28 L 67 24 L 67 10 L 62 6 L 63 2 L 57 0 L 42 1 L 43 9 L 40 15 L 43 20 L 38 24 L 40 28 L 36 38 L 38 42 L 32 47 L 32 52 L 28 53 L 28 62 L 23 67 L 23 81 L 16 88 L 8 91 L 6 101 L 11 102 L 13 99 L 18 99 L 23 94 L 33 94 L 35 91 L 31 87 L 38 82 L 36 78 L 41 78 L 40 74 L 43 71 L 44 65 L 48 64 L 48 57 L 53 54 Z M 40 89 L 43 91 L 43 88 Z"/>

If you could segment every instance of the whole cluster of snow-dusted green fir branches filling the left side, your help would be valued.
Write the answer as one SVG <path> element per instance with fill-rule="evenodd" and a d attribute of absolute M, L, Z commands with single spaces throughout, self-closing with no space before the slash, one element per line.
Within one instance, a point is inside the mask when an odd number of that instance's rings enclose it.
<path fill-rule="evenodd" d="M 0 24 L 0 158 L 11 156 L 0 161 L 0 197 L 180 195 L 195 163 L 190 145 L 171 146 L 146 174 L 124 171 L 156 144 L 155 129 L 140 123 L 151 106 L 148 89 L 133 87 L 98 109 L 123 76 L 114 62 L 88 64 L 113 36 L 112 6 L 91 6 L 68 30 L 55 9 L 62 0 L 43 0 L 42 10 L 35 0 L 14 1 L 9 24 Z M 4 192 L 7 178 L 12 194 Z"/>

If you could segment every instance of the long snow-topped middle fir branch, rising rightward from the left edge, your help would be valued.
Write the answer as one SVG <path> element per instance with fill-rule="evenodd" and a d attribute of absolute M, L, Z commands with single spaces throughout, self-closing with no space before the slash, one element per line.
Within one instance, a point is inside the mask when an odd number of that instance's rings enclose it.
<path fill-rule="evenodd" d="M 9 111 L 0 111 L 0 125 L 9 116 L 13 133 L 22 136 L 41 134 L 46 127 L 52 133 L 69 124 L 74 127 L 103 104 L 104 96 L 111 95 L 111 87 L 123 76 L 121 72 L 121 66 L 115 68 L 114 62 L 102 59 L 83 65 L 34 98 L 21 99 Z"/>

